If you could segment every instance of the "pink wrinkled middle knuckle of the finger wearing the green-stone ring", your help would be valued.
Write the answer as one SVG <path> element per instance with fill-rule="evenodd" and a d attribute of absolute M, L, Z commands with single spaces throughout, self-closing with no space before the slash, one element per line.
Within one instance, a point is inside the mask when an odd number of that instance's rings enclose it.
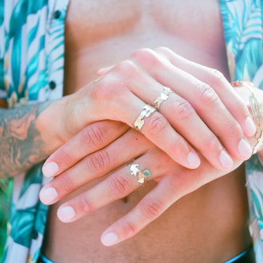
<path fill-rule="evenodd" d="M 118 173 L 108 179 L 109 189 L 117 197 L 126 196 L 133 190 L 133 184 L 125 174 Z"/>

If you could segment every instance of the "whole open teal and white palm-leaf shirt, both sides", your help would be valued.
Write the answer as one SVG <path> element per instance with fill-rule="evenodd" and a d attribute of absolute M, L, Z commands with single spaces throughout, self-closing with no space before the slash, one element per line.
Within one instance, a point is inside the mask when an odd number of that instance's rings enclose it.
<path fill-rule="evenodd" d="M 62 97 L 69 0 L 0 0 L 0 97 L 8 107 Z M 219 0 L 231 80 L 263 89 L 263 0 Z M 263 262 L 263 161 L 246 162 L 250 230 Z M 13 179 L 5 263 L 39 257 L 48 207 L 39 201 L 42 163 Z"/>

